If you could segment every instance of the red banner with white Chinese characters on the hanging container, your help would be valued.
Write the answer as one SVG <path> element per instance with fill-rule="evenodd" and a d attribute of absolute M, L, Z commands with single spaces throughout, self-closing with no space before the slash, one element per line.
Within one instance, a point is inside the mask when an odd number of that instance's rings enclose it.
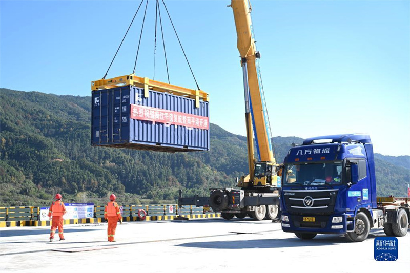
<path fill-rule="evenodd" d="M 180 125 L 199 129 L 209 129 L 209 118 L 192 114 L 186 114 L 171 110 L 153 108 L 131 104 L 131 118 L 161 122 L 167 125 Z"/>

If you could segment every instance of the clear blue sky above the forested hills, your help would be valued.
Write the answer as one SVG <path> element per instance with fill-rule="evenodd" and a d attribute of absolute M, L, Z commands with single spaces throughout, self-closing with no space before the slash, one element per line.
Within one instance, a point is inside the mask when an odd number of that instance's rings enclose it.
<path fill-rule="evenodd" d="M 0 1 L 0 86 L 88 96 L 140 1 Z M 245 134 L 230 1 L 166 1 L 211 122 Z M 143 4 L 144 5 L 144 4 Z M 161 6 L 162 7 L 162 6 Z M 274 136 L 366 132 L 385 155 L 410 155 L 409 1 L 253 1 L 253 26 Z M 161 10 L 171 83 L 195 89 Z M 132 73 L 140 11 L 108 77 Z M 155 1 L 139 76 L 153 77 Z M 155 79 L 167 81 L 157 39 Z M 399 140 L 397 140 L 399 139 Z"/>

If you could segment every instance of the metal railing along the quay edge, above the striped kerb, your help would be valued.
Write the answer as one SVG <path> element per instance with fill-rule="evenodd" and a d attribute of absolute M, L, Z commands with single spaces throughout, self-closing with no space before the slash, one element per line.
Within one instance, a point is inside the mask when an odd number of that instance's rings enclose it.
<path fill-rule="evenodd" d="M 170 207 L 173 207 L 170 213 Z M 94 205 L 94 218 L 104 218 L 104 205 Z M 123 205 L 122 216 L 134 217 L 137 216 L 138 209 L 144 209 L 147 216 L 167 216 L 178 215 L 177 204 L 152 204 L 152 205 Z M 193 205 L 181 207 L 181 214 L 196 215 L 212 213 L 207 211 L 205 207 L 195 207 Z M 39 206 L 12 206 L 0 207 L 0 221 L 19 221 L 19 220 L 40 220 Z"/>

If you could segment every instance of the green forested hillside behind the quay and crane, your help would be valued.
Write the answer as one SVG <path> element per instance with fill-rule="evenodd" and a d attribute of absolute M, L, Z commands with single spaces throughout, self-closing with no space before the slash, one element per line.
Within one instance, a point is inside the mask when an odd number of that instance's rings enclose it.
<path fill-rule="evenodd" d="M 0 89 L 0 205 L 66 201 L 122 203 L 175 200 L 233 186 L 247 172 L 245 137 L 211 124 L 211 151 L 169 154 L 90 144 L 91 98 Z M 273 139 L 278 162 L 297 137 Z M 382 155 L 380 155 L 382 156 Z M 377 157 L 379 195 L 403 196 L 410 181 L 401 159 Z M 404 164 L 404 165 L 403 165 Z"/>

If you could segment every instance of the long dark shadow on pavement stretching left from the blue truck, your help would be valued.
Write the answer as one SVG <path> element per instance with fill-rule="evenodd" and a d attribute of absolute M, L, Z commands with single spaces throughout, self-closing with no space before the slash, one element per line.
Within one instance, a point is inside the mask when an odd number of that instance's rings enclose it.
<path fill-rule="evenodd" d="M 299 238 L 286 239 L 257 239 L 257 240 L 236 240 L 236 241 L 214 241 L 214 242 L 193 242 L 179 244 L 176 246 L 198 247 L 198 248 L 219 248 L 219 249 L 251 249 L 251 248 L 285 248 L 299 246 L 321 246 L 346 243 L 342 236 L 318 235 L 312 240 L 300 240 Z"/>

